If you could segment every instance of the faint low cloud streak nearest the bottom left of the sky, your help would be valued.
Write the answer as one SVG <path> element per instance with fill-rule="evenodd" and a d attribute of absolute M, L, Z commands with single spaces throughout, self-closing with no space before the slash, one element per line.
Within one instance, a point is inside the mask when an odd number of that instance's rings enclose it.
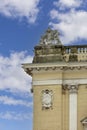
<path fill-rule="evenodd" d="M 6 119 L 6 120 L 28 120 L 32 117 L 31 113 L 17 113 L 17 112 L 1 112 L 0 113 L 0 118 L 1 119 Z"/>

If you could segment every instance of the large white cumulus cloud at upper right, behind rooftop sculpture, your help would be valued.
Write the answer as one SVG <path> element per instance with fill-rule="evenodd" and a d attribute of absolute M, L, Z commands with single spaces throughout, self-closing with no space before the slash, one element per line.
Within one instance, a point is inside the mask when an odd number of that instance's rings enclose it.
<path fill-rule="evenodd" d="M 59 0 L 54 2 L 54 5 L 58 8 L 50 11 L 52 21 L 49 25 L 60 31 L 62 43 L 70 44 L 87 40 L 87 11 L 82 8 L 83 0 Z M 87 3 L 84 6 L 86 7 Z"/>

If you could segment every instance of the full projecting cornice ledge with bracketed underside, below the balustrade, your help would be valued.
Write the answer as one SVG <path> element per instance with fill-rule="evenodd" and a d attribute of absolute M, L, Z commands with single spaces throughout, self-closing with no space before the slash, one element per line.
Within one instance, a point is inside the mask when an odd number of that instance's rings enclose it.
<path fill-rule="evenodd" d="M 46 71 L 79 71 L 87 70 L 87 62 L 58 62 L 58 63 L 39 63 L 22 64 L 26 73 L 32 75 L 34 72 Z"/>

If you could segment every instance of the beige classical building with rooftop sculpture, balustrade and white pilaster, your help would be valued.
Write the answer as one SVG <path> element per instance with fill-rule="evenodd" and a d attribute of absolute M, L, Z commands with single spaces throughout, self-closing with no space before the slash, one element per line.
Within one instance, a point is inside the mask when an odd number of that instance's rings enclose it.
<path fill-rule="evenodd" d="M 50 28 L 31 64 L 33 130 L 87 130 L 87 45 L 65 46 Z"/>

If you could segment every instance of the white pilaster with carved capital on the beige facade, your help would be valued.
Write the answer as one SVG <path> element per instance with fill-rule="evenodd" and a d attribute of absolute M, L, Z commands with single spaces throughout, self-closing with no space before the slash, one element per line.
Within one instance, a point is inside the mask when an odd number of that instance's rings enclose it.
<path fill-rule="evenodd" d="M 69 130 L 77 130 L 77 90 L 78 85 L 69 85 Z"/>

